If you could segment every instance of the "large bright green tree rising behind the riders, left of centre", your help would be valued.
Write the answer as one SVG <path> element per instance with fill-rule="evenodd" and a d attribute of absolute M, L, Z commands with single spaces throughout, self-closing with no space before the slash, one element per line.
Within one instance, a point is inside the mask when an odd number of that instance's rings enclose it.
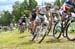
<path fill-rule="evenodd" d="M 23 14 L 28 15 L 29 12 L 36 6 L 37 2 L 35 0 L 24 0 L 24 2 L 22 3 L 15 2 L 15 4 L 13 5 L 13 12 L 12 12 L 13 15 L 15 16 L 15 21 L 17 22 Z"/>

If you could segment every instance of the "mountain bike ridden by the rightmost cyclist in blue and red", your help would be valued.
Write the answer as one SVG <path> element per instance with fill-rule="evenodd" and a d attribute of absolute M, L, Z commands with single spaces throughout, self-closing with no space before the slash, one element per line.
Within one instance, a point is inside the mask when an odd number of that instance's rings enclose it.
<path fill-rule="evenodd" d="M 59 39 L 61 35 L 63 35 L 63 37 L 66 37 L 70 41 L 75 40 L 75 33 L 73 32 L 74 30 L 71 30 L 75 28 L 74 18 L 75 17 L 72 17 L 72 15 L 69 14 L 68 17 L 65 18 L 62 22 L 58 20 L 54 25 L 53 37 Z"/>

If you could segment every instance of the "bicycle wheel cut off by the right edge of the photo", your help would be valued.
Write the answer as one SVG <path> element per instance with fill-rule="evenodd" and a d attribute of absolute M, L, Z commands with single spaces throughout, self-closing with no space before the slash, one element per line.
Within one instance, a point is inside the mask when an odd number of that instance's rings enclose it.
<path fill-rule="evenodd" d="M 71 21 L 71 23 L 68 24 L 66 29 L 66 37 L 70 41 L 75 40 L 75 21 Z"/>

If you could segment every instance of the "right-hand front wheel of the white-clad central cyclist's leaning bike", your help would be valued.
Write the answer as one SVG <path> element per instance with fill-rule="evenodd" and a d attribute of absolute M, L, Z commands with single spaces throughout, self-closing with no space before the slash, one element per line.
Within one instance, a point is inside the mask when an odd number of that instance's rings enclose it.
<path fill-rule="evenodd" d="M 35 37 L 35 42 L 41 43 L 44 40 L 46 33 L 47 33 L 47 26 L 40 26 L 38 28 L 37 35 Z"/>

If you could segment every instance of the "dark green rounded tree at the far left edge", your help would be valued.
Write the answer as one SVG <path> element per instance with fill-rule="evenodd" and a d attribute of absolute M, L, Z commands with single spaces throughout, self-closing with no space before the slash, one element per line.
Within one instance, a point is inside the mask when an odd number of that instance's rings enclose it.
<path fill-rule="evenodd" d="M 8 11 L 4 11 L 4 14 L 0 18 L 0 25 L 10 25 L 12 18 L 12 15 Z"/>

